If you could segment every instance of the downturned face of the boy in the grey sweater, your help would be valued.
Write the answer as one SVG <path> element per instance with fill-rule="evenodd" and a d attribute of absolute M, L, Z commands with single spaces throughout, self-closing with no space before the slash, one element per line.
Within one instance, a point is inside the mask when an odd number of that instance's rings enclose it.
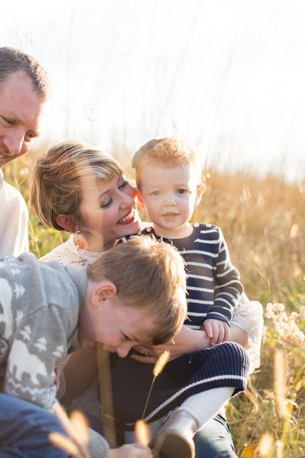
<path fill-rule="evenodd" d="M 156 316 L 147 316 L 143 309 L 126 307 L 118 297 L 99 306 L 84 307 L 80 314 L 78 340 L 84 349 L 104 345 L 120 358 L 127 356 L 134 345 L 152 345 L 148 335 L 154 329 Z"/>

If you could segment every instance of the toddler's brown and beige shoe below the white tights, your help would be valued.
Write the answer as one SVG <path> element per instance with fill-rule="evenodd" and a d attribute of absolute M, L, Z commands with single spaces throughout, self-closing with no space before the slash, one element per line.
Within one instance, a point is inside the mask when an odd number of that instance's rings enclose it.
<path fill-rule="evenodd" d="M 152 449 L 154 458 L 194 458 L 195 419 L 184 410 L 175 411 L 164 423 Z"/>

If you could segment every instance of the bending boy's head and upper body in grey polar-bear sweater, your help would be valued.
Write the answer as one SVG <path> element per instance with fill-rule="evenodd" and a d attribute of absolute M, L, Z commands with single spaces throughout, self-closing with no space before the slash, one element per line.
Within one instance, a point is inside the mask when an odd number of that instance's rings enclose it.
<path fill-rule="evenodd" d="M 109 250 L 89 268 L 44 264 L 33 254 L 2 259 L 4 391 L 51 411 L 54 369 L 66 356 L 77 326 L 83 348 L 104 344 L 120 357 L 139 343 L 161 344 L 185 319 L 185 283 L 178 252 L 148 237 Z M 2 421 L 0 417 L 0 430 Z"/>

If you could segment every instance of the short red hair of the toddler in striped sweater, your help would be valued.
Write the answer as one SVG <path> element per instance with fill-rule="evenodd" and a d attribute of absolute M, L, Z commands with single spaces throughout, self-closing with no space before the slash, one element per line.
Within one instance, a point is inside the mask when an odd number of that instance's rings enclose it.
<path fill-rule="evenodd" d="M 132 157 L 132 168 L 135 168 L 137 187 L 141 190 L 142 167 L 150 162 L 161 163 L 166 167 L 192 166 L 197 171 L 198 184 L 202 180 L 201 163 L 191 144 L 176 137 L 150 140 L 138 149 Z"/>

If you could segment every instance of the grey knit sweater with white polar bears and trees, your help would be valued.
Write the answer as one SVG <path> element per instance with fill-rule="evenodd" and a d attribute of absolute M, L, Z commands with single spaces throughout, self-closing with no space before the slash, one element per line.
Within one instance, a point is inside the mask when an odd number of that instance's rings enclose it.
<path fill-rule="evenodd" d="M 4 392 L 51 411 L 54 368 L 66 357 L 85 299 L 87 269 L 34 254 L 0 260 L 0 378 Z"/>

